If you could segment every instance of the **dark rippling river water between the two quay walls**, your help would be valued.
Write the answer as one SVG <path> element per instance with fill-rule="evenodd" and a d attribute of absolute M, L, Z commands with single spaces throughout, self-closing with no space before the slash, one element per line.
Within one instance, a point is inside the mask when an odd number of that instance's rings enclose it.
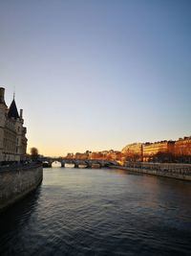
<path fill-rule="evenodd" d="M 44 169 L 0 214 L 0 255 L 191 255 L 191 183 L 120 170 Z"/>

